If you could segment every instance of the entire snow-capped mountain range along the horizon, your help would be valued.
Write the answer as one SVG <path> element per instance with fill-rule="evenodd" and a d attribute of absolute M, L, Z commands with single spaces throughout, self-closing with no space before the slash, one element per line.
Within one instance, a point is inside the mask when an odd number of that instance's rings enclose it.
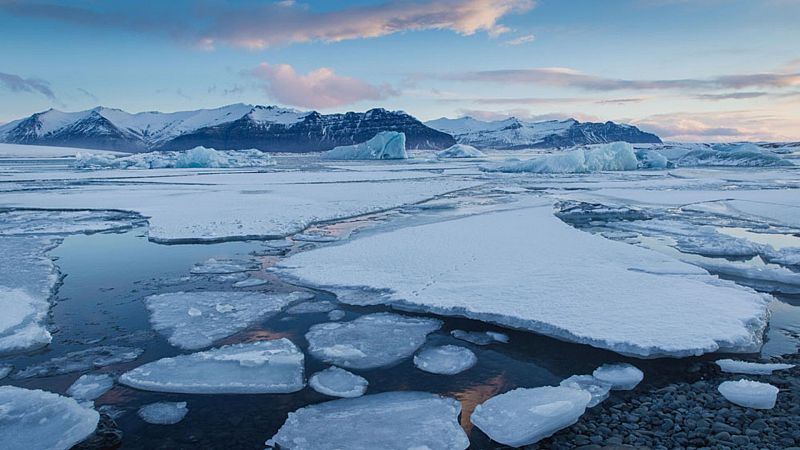
<path fill-rule="evenodd" d="M 569 147 L 612 141 L 661 142 L 630 125 L 576 120 L 486 122 L 471 117 L 422 123 L 403 111 L 321 114 L 278 106 L 233 104 L 173 113 L 128 113 L 97 107 L 50 109 L 0 126 L 0 142 L 143 152 L 185 150 L 202 145 L 220 150 L 256 148 L 310 152 L 364 142 L 380 131 L 402 131 L 409 149 L 447 148 L 456 142 L 478 148 Z"/>

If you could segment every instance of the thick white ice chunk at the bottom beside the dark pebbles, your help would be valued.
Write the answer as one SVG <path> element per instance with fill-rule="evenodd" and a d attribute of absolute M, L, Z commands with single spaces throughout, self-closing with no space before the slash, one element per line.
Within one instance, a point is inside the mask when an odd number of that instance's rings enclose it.
<path fill-rule="evenodd" d="M 521 447 L 576 423 L 591 400 L 588 392 L 568 387 L 520 388 L 478 405 L 470 420 L 492 440 Z"/>

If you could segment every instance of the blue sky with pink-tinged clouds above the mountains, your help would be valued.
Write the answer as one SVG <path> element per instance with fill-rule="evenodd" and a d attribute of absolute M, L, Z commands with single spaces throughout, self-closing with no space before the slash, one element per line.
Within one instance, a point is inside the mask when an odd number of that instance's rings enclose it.
<path fill-rule="evenodd" d="M 231 103 L 800 140 L 800 0 L 0 0 L 0 123 Z"/>

